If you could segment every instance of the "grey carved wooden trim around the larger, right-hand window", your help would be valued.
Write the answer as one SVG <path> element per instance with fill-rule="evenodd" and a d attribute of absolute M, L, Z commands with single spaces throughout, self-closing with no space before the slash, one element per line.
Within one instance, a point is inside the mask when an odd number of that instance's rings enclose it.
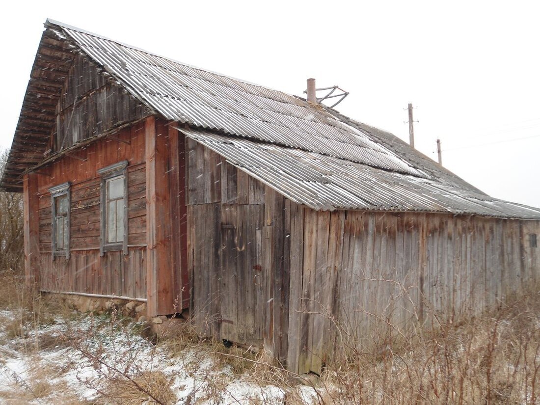
<path fill-rule="evenodd" d="M 120 161 L 118 163 L 115 163 L 110 166 L 106 166 L 103 168 L 100 168 L 97 173 L 99 176 L 102 177 L 101 179 L 101 186 L 100 186 L 100 204 L 99 204 L 99 217 L 100 217 L 100 234 L 99 234 L 99 254 L 103 256 L 105 252 L 111 252 L 111 251 L 123 251 L 124 254 L 127 254 L 127 235 L 129 232 L 127 232 L 127 224 L 129 222 L 128 218 L 128 211 L 127 211 L 127 205 L 128 205 L 128 194 L 127 194 L 127 164 L 129 162 L 127 160 Z M 106 185 L 107 180 L 117 177 L 117 176 L 123 176 L 124 178 L 124 240 L 122 242 L 114 242 L 114 243 L 107 243 L 105 242 L 106 239 L 106 230 L 107 230 L 107 223 L 106 223 Z"/>

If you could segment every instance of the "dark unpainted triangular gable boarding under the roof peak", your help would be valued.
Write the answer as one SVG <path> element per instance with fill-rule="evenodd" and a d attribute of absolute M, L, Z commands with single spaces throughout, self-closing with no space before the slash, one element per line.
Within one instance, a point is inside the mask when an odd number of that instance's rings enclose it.
<path fill-rule="evenodd" d="M 147 115 L 146 106 L 77 54 L 56 107 L 52 150 L 60 151 Z"/>

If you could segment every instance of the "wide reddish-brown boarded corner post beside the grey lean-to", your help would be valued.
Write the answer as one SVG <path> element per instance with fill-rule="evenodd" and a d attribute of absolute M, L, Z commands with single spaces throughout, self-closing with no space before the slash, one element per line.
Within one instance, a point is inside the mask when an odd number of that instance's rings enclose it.
<path fill-rule="evenodd" d="M 149 315 L 181 312 L 182 291 L 188 289 L 182 277 L 186 266 L 181 263 L 183 252 L 185 254 L 181 237 L 185 201 L 181 200 L 180 193 L 180 176 L 184 176 L 180 173 L 180 158 L 183 156 L 180 156 L 178 131 L 165 124 L 154 117 L 145 122 Z"/>

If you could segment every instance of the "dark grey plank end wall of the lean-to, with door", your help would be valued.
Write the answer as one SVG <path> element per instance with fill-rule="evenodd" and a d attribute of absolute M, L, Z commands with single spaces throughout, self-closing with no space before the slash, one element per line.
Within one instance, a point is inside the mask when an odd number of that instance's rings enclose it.
<path fill-rule="evenodd" d="M 285 361 L 291 203 L 190 138 L 186 152 L 193 319 Z"/>

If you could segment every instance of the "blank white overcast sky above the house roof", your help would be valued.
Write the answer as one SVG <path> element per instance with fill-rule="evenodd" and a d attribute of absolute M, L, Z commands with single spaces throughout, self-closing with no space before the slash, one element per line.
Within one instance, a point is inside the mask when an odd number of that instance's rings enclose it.
<path fill-rule="evenodd" d="M 8 148 L 47 17 L 208 70 L 336 107 L 408 139 L 488 194 L 540 207 L 538 2 L 11 2 L 2 35 Z M 523 139 L 527 138 L 527 139 Z"/>

